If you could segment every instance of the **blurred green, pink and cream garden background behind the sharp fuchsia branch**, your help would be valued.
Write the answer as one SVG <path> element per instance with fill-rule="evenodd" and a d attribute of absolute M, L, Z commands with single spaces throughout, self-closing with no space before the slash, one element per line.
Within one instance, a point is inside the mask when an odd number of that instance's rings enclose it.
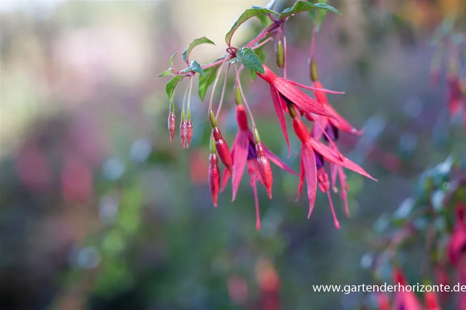
<path fill-rule="evenodd" d="M 191 59 L 217 59 L 234 20 L 266 4 L 1 2 L 1 309 L 359 307 L 362 293 L 315 293 L 312 285 L 369 284 L 375 220 L 410 195 L 423 170 L 464 156 L 445 77 L 433 87 L 429 72 L 434 30 L 448 19 L 452 31 L 464 31 L 466 2 L 330 0 L 343 16 L 327 14 L 317 36 L 320 80 L 346 91 L 330 103 L 366 129 L 360 138 L 343 134 L 342 153 L 379 182 L 348 172 L 351 218 L 333 195 L 337 230 L 326 195 L 307 219 L 305 197 L 295 202 L 298 178 L 274 166 L 274 199 L 259 188 L 256 231 L 246 177 L 235 202 L 227 188 L 212 206 L 208 99 L 191 97 L 194 137 L 183 150 L 178 128 L 169 142 L 168 78 L 157 76 L 194 38 L 217 45 L 196 47 Z M 233 44 L 258 31 L 251 19 Z M 311 31 L 306 13 L 286 24 L 289 78 L 307 85 Z M 275 70 L 273 48 L 265 63 Z M 184 68 L 181 57 L 174 65 Z M 231 145 L 227 90 L 220 128 Z M 265 145 L 298 171 L 298 140 L 290 135 L 287 159 L 268 85 L 256 79 L 246 96 Z M 178 121 L 182 97 L 175 95 Z"/>

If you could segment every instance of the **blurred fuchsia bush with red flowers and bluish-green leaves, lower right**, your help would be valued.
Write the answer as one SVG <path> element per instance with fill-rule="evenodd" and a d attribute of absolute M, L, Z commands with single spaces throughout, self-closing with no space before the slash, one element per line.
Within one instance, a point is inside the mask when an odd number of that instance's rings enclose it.
<path fill-rule="evenodd" d="M 372 299 L 376 306 L 371 308 L 440 310 L 453 302 L 456 309 L 466 309 L 464 197 L 464 171 L 448 158 L 420 176 L 414 197 L 405 200 L 391 216 L 381 216 L 374 226 L 382 236 L 374 242 L 375 251 L 365 254 L 365 260 L 371 261 L 366 267 L 372 268 L 376 283 L 391 277 L 393 284 L 412 286 L 393 294 L 376 293 Z M 410 249 L 414 253 L 409 253 Z M 411 281 L 403 271 L 406 254 L 420 254 L 421 258 L 417 279 L 412 276 Z M 391 275 L 387 274 L 390 270 Z M 421 298 L 412 287 L 418 288 Z"/>

